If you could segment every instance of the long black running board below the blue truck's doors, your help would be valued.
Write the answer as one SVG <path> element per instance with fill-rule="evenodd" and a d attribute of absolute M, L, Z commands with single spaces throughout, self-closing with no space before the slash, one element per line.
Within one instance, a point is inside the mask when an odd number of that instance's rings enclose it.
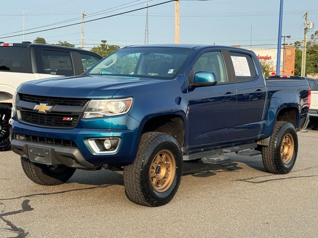
<path fill-rule="evenodd" d="M 218 148 L 215 150 L 199 151 L 199 152 L 194 152 L 194 153 L 183 155 L 183 160 L 189 161 L 189 160 L 195 160 L 195 159 L 201 159 L 201 158 L 211 158 L 213 156 L 220 156 L 223 153 L 239 152 L 239 151 L 243 151 L 243 150 L 254 149 L 256 147 L 257 147 L 257 143 L 250 143 L 250 144 L 232 146 L 232 147 L 227 147 L 227 148 L 222 148 L 222 149 Z M 249 152 L 249 153 L 251 153 L 251 152 Z M 250 155 L 250 156 L 252 156 L 252 155 Z"/>

